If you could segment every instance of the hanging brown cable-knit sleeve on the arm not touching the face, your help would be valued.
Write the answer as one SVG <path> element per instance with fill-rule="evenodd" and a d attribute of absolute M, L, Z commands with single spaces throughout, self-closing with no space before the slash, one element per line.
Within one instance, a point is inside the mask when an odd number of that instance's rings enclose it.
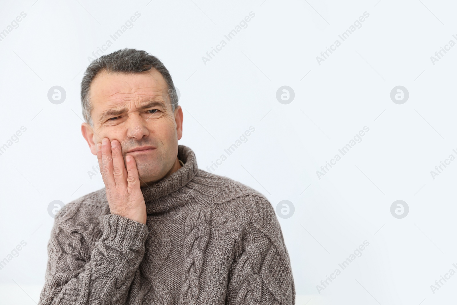
<path fill-rule="evenodd" d="M 227 305 L 294 305 L 295 285 L 281 226 L 271 204 L 248 226 L 229 273 Z"/>

